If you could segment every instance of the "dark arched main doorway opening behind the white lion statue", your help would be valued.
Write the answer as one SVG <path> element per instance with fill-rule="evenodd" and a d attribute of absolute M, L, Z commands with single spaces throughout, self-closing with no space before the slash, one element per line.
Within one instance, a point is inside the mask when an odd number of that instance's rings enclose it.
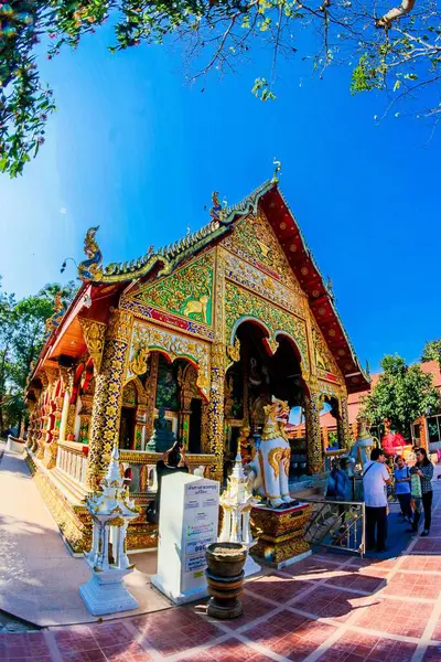
<path fill-rule="evenodd" d="M 238 447 L 246 459 L 258 444 L 265 406 L 271 396 L 287 401 L 291 409 L 302 406 L 304 397 L 299 354 L 288 337 L 277 337 L 275 354 L 269 350 L 267 331 L 256 322 L 243 322 L 236 337 L 240 341 L 240 357 L 227 371 L 225 384 L 224 476 L 228 474 Z M 305 455 L 304 442 L 304 463 Z"/>

